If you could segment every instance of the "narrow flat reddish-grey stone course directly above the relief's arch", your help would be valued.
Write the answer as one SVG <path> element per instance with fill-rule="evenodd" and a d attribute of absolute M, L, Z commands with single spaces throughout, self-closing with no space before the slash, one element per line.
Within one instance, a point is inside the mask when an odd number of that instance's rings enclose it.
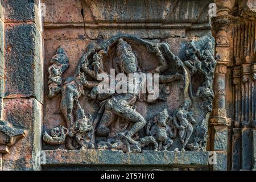
<path fill-rule="evenodd" d="M 137 36 L 144 39 L 165 39 L 173 37 L 185 37 L 185 28 L 161 28 L 151 27 L 146 28 L 146 24 L 141 24 L 139 28 L 119 28 L 119 27 L 106 27 L 106 28 L 91 28 L 83 27 L 81 24 L 78 28 L 61 28 L 56 29 L 54 24 L 46 25 L 45 34 L 47 40 L 49 39 L 109 39 L 112 36 L 119 34 L 136 34 Z M 71 31 L 72 30 L 72 31 Z M 203 35 L 203 34 L 202 34 Z"/>

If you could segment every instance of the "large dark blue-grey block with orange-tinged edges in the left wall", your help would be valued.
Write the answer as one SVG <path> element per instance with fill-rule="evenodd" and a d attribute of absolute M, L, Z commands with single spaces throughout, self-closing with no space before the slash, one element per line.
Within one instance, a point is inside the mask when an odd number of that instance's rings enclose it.
<path fill-rule="evenodd" d="M 5 97 L 43 102 L 42 36 L 34 23 L 5 27 Z"/>

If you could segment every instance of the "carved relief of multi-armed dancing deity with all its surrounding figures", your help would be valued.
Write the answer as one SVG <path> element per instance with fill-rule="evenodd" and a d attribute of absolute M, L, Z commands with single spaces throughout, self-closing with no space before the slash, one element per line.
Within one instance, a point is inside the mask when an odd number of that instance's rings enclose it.
<path fill-rule="evenodd" d="M 140 48 L 146 51 L 140 52 Z M 86 50 L 75 74 L 67 78 L 62 76 L 69 66 L 67 53 L 60 47 L 52 57 L 52 65 L 48 68 L 48 96 L 53 98 L 61 94 L 60 114 L 66 125 L 44 131 L 44 142 L 65 144 L 69 150 L 111 149 L 127 153 L 205 150 L 216 65 L 211 38 L 192 39 L 185 45 L 182 59 L 171 52 L 166 42 L 151 42 L 133 35 L 114 36 L 104 43 L 91 44 Z M 143 53 L 150 54 L 154 60 L 146 60 L 140 55 Z M 157 64 L 154 68 L 146 68 L 145 61 Z M 131 73 L 139 76 L 158 74 L 159 86 L 152 86 L 159 93 L 158 97 L 155 92 L 119 93 L 111 87 L 109 92 L 100 92 L 104 80 L 99 79 L 101 74 L 108 78 L 107 83 L 113 80 L 110 68 L 115 69 L 115 75 L 126 76 L 125 80 L 114 78 L 115 86 L 123 83 L 133 88 L 143 85 L 142 82 L 134 84 L 136 80 L 129 77 Z M 197 77 L 201 82 L 194 83 Z M 179 105 L 171 108 L 174 101 L 170 98 L 175 88 L 180 93 L 177 94 Z M 81 97 L 98 103 L 96 114 L 85 113 Z M 143 109 L 147 111 L 142 112 Z"/>

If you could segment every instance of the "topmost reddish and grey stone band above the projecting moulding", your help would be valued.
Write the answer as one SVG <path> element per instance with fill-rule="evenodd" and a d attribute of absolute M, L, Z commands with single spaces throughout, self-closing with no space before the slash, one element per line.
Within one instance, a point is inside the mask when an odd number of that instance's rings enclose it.
<path fill-rule="evenodd" d="M 84 9 L 85 23 L 100 22 L 163 22 L 163 23 L 204 23 L 208 22 L 210 0 L 203 1 L 42 1 L 49 7 L 46 22 L 82 22 L 81 8 Z M 204 6 L 202 6 L 204 5 Z M 154 7 L 154 8 L 152 8 Z M 187 7 L 191 9 L 187 10 Z M 66 11 L 67 10 L 67 11 Z"/>

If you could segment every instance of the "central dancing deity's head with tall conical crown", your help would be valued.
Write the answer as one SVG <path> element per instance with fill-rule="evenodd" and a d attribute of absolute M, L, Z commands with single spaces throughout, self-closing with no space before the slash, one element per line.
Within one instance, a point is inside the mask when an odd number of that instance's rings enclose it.
<path fill-rule="evenodd" d="M 119 60 L 119 66 L 126 74 L 137 72 L 137 58 L 133 49 L 123 39 L 119 39 L 118 42 L 117 57 Z"/>

